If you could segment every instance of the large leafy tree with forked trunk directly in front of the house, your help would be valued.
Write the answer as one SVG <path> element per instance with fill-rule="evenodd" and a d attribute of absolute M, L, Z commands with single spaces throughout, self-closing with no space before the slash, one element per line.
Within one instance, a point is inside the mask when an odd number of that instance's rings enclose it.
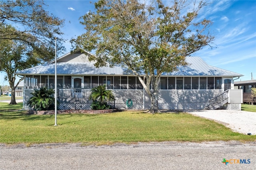
<path fill-rule="evenodd" d="M 186 56 L 214 40 L 211 22 L 199 20 L 203 1 L 99 0 L 95 12 L 82 16 L 86 33 L 74 40 L 74 48 L 94 51 L 96 67 L 122 65 L 138 77 L 158 112 L 162 73 L 186 65 Z M 145 75 L 146 81 L 141 77 Z M 144 83 L 146 82 L 146 83 Z M 153 90 L 150 91 L 152 83 Z"/>

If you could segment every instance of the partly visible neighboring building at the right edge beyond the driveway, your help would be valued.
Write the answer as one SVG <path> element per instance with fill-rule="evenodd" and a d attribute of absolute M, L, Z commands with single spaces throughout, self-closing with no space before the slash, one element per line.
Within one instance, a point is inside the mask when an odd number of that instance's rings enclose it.
<path fill-rule="evenodd" d="M 256 88 L 256 80 L 236 81 L 235 89 L 242 89 L 243 103 L 256 104 L 256 98 L 252 97 L 252 88 Z"/>

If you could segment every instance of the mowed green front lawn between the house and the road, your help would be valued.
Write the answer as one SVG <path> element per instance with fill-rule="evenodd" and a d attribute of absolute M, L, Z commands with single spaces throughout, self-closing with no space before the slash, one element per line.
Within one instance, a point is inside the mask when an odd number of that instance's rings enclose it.
<path fill-rule="evenodd" d="M 112 144 L 149 141 L 255 141 L 256 135 L 232 132 L 224 125 L 186 113 L 28 115 L 22 103 L 0 103 L 0 143 L 82 142 Z"/>

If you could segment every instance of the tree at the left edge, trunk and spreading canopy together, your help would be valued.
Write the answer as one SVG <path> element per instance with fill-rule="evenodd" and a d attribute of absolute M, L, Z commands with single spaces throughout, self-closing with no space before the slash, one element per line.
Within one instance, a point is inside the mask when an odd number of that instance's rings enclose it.
<path fill-rule="evenodd" d="M 3 55 L 4 57 L 10 57 L 10 55 L 14 54 L 17 57 L 21 55 L 22 62 L 24 62 L 22 69 L 53 59 L 55 55 L 55 38 L 58 39 L 58 51 L 65 49 L 62 45 L 64 41 L 61 38 L 63 33 L 60 31 L 64 20 L 49 14 L 44 10 L 45 7 L 46 4 L 42 0 L 0 1 L 1 52 L 6 52 Z M 6 46 L 3 46 L 4 44 Z M 10 47 L 8 45 L 14 46 Z M 16 53 L 17 51 L 2 51 L 2 48 L 13 50 L 17 45 L 22 48 L 19 51 L 20 53 Z M 14 61 L 4 57 L 1 56 L 0 71 L 6 72 L 10 87 L 12 91 L 15 91 L 15 72 L 13 70 L 17 71 L 20 68 L 16 68 L 17 65 L 12 63 L 12 68 L 10 69 L 10 63 L 8 62 Z M 8 74 L 12 74 L 12 76 Z M 10 104 L 16 104 L 14 95 L 15 93 L 12 94 Z"/>

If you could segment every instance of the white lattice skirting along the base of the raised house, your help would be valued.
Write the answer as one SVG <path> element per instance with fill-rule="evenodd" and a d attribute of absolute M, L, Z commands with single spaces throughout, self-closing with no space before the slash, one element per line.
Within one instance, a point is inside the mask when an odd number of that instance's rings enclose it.
<path fill-rule="evenodd" d="M 145 103 L 143 107 L 143 103 L 133 103 L 131 107 L 127 107 L 126 103 L 111 103 L 112 107 L 116 109 L 150 109 L 151 103 Z M 204 109 L 207 107 L 209 103 L 158 103 L 158 109 Z M 25 106 L 24 109 L 30 109 L 28 106 Z M 59 110 L 91 110 L 91 103 L 60 103 Z M 222 109 L 226 110 L 241 110 L 241 103 L 227 103 L 222 106 Z"/>

